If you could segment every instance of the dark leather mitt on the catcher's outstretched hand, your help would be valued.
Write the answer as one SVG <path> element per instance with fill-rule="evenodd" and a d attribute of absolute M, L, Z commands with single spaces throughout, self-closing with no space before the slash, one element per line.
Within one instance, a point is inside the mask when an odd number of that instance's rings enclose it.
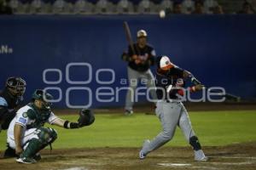
<path fill-rule="evenodd" d="M 95 121 L 95 116 L 92 111 L 83 109 L 79 111 L 79 127 L 89 126 Z"/>

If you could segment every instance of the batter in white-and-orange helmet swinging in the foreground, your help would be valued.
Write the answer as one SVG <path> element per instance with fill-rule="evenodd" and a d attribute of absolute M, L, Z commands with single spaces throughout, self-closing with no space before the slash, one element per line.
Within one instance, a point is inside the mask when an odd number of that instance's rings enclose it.
<path fill-rule="evenodd" d="M 194 150 L 195 161 L 207 161 L 207 156 L 201 150 L 199 139 L 196 137 L 189 121 L 188 112 L 180 101 L 185 79 L 190 78 L 195 84 L 195 86 L 189 88 L 191 92 L 201 90 L 204 86 L 189 71 L 173 65 L 166 56 L 158 57 L 156 64 L 158 69 L 155 82 L 158 102 L 155 113 L 160 119 L 163 130 L 153 140 L 147 139 L 144 141 L 143 148 L 139 152 L 140 159 L 144 159 L 149 152 L 170 141 L 178 126 Z"/>

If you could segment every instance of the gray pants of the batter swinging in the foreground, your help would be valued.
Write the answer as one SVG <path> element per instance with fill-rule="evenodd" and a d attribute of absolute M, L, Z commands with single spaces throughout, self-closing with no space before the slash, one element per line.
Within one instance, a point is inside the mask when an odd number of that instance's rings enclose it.
<path fill-rule="evenodd" d="M 159 133 L 149 143 L 144 143 L 143 153 L 148 154 L 152 150 L 158 149 L 163 144 L 170 141 L 175 133 L 175 129 L 179 126 L 189 143 L 189 139 L 195 136 L 192 129 L 189 115 L 181 102 L 175 101 L 167 103 L 166 101 L 158 101 L 155 109 L 156 116 L 160 118 L 163 131 Z"/>

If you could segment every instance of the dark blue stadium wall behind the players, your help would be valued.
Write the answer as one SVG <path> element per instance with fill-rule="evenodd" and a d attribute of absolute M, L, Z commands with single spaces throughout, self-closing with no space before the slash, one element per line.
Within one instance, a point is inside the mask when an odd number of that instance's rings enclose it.
<path fill-rule="evenodd" d="M 145 29 L 158 55 L 170 56 L 207 86 L 256 98 L 256 15 L 242 14 L 181 14 L 164 20 L 156 15 L 1 16 L 1 88 L 7 77 L 20 76 L 27 82 L 26 101 L 34 89 L 48 87 L 59 107 L 124 105 L 125 90 L 118 102 L 106 96 L 101 98 L 113 102 L 99 102 L 95 95 L 102 90 L 115 96 L 117 88 L 127 86 L 121 82 L 127 77 L 120 59 L 127 48 L 124 20 L 134 39 L 137 30 Z"/>

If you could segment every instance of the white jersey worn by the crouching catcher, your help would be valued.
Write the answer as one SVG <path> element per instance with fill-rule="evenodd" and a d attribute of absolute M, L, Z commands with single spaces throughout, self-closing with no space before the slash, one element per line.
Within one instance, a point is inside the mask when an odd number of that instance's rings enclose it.
<path fill-rule="evenodd" d="M 35 128 L 35 123 L 38 122 L 38 117 L 36 116 L 30 116 L 30 112 L 34 111 L 34 108 L 30 105 L 26 105 L 24 107 L 21 107 L 19 111 L 17 111 L 17 114 L 15 118 L 10 122 L 9 128 L 8 128 L 8 137 L 11 139 L 15 139 L 14 130 L 15 130 L 15 124 L 20 125 L 22 128 L 21 133 L 21 139 L 24 138 L 24 134 L 27 129 L 29 128 Z M 36 114 L 40 114 L 37 111 L 35 111 Z M 40 116 L 40 115 L 38 115 Z M 49 113 L 49 116 L 47 119 L 44 120 L 44 122 L 48 122 L 49 124 L 52 124 L 55 122 L 55 120 L 58 119 L 58 116 L 55 116 L 53 112 Z M 44 125 L 44 122 L 42 124 Z M 38 123 L 37 123 L 38 124 Z"/>

